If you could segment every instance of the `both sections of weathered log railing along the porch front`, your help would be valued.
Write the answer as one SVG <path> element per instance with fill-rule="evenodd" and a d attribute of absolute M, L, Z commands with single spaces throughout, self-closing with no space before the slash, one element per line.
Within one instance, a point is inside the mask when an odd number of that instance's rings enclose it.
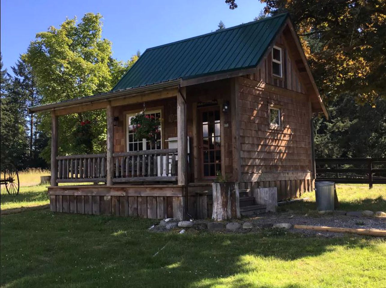
<path fill-rule="evenodd" d="M 177 180 L 177 149 L 113 153 L 113 182 Z M 57 183 L 106 182 L 106 154 L 58 156 Z"/>

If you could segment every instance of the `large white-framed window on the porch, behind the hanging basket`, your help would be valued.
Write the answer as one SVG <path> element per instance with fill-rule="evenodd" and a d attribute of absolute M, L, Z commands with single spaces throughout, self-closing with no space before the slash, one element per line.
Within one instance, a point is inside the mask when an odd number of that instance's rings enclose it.
<path fill-rule="evenodd" d="M 154 149 L 162 149 L 162 123 L 161 123 L 161 110 L 155 110 L 155 111 L 145 111 L 145 115 L 154 116 L 156 119 L 160 121 L 160 125 L 158 127 L 158 132 L 156 134 L 156 145 L 155 147 L 150 141 L 144 139 L 137 139 L 135 137 L 135 133 L 133 131 L 133 125 L 130 123 L 130 119 L 135 115 L 134 114 L 127 114 L 126 116 L 126 143 L 127 152 L 132 151 L 143 151 L 143 150 L 154 150 Z"/>

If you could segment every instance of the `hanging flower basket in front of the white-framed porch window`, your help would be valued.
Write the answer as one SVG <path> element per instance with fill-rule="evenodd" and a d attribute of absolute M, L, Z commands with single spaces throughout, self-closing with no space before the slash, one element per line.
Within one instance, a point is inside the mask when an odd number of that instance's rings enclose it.
<path fill-rule="evenodd" d="M 133 131 L 137 139 L 146 138 L 152 144 L 156 143 L 160 121 L 154 115 L 146 115 L 144 111 L 141 111 L 131 118 L 130 123 L 133 125 Z"/>

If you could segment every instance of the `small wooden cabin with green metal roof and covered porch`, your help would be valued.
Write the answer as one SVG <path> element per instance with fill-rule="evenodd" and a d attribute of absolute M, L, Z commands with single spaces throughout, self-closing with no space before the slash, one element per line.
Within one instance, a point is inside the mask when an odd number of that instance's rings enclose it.
<path fill-rule="evenodd" d="M 130 125 L 144 107 L 161 123 L 155 145 Z M 58 117 L 95 109 L 107 109 L 107 153 L 58 155 L 71 141 Z M 312 191 L 311 120 L 327 117 L 288 14 L 147 49 L 112 91 L 30 108 L 43 111 L 52 211 L 154 219 L 210 217 L 218 173 L 239 183 L 242 214 L 258 212 L 257 187 Z"/>

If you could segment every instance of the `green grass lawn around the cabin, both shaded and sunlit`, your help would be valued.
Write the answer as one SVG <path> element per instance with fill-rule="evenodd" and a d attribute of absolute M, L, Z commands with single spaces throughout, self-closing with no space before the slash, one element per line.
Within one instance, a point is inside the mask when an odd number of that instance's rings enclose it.
<path fill-rule="evenodd" d="M 338 186 L 342 209 L 385 211 L 385 187 Z M 39 199 L 39 193 L 46 197 L 44 186 L 25 189 L 34 194 L 20 194 L 27 203 Z M 3 196 L 2 209 L 12 202 Z M 304 212 L 314 205 L 285 207 Z M 48 209 L 3 215 L 0 222 L 1 287 L 295 288 L 386 283 L 386 241 L 379 238 L 325 238 L 271 229 L 253 234 L 155 233 L 147 230 L 155 222 L 149 219 Z"/>

